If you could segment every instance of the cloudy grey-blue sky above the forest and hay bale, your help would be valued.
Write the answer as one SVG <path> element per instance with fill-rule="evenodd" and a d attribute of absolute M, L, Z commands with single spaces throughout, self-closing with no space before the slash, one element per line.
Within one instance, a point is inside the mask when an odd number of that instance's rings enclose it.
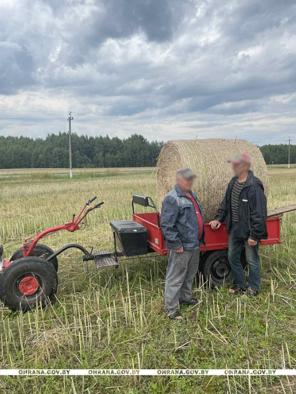
<path fill-rule="evenodd" d="M 1 135 L 286 143 L 296 2 L 0 0 L 0 77 Z"/>

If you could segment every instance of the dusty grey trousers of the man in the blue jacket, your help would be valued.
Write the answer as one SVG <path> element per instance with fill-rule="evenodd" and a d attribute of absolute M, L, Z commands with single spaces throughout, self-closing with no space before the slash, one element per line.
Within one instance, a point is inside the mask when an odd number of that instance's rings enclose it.
<path fill-rule="evenodd" d="M 184 249 L 177 253 L 168 248 L 168 267 L 165 284 L 165 308 L 168 312 L 178 310 L 179 300 L 192 298 L 191 285 L 199 268 L 200 249 Z"/>

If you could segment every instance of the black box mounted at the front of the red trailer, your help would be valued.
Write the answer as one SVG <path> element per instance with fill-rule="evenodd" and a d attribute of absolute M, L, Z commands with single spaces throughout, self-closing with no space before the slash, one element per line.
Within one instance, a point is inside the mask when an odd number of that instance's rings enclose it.
<path fill-rule="evenodd" d="M 131 257 L 147 254 L 147 228 L 133 221 L 110 222 L 115 247 L 124 256 Z"/>

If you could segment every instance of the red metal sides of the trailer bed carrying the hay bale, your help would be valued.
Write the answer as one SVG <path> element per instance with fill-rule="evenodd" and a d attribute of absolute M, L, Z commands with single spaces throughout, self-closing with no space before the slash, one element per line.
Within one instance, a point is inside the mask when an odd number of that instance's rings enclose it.
<path fill-rule="evenodd" d="M 162 229 L 157 224 L 157 213 L 133 213 L 132 220 L 140 223 L 147 228 L 147 243 L 148 246 L 160 255 L 167 254 L 165 240 L 163 237 Z M 262 240 L 261 245 L 274 245 L 281 243 L 281 219 L 271 218 L 267 219 L 267 232 L 268 239 Z M 226 231 L 226 223 L 222 223 L 219 230 L 213 231 L 210 225 L 206 223 L 205 241 L 207 247 L 201 246 L 201 251 L 205 250 L 219 250 L 228 249 L 228 233 Z"/>

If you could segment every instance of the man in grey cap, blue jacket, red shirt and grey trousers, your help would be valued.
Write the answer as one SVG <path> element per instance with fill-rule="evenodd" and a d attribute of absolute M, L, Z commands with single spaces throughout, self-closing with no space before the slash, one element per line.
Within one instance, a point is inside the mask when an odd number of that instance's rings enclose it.
<path fill-rule="evenodd" d="M 178 303 L 197 305 L 191 284 L 199 268 L 200 244 L 204 243 L 205 225 L 202 207 L 191 191 L 196 175 L 190 168 L 176 172 L 176 185 L 165 196 L 161 228 L 168 249 L 165 284 L 165 308 L 171 319 L 180 319 Z"/>

